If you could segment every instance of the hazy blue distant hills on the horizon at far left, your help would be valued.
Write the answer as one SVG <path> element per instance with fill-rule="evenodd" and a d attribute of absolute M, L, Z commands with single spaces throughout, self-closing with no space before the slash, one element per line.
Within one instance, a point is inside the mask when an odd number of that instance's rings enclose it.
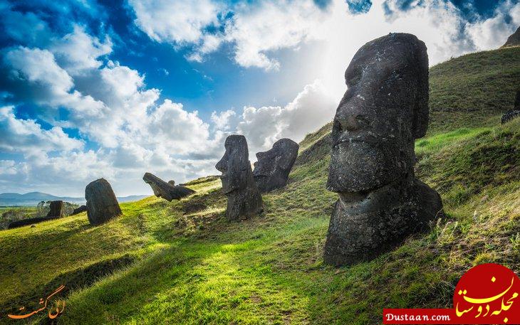
<path fill-rule="evenodd" d="M 137 201 L 147 196 L 123 196 L 118 197 L 119 202 Z M 73 198 L 69 196 L 53 196 L 48 193 L 29 192 L 20 193 L 0 193 L 0 206 L 36 206 L 40 201 L 66 201 L 76 204 L 85 204 L 85 198 Z"/>

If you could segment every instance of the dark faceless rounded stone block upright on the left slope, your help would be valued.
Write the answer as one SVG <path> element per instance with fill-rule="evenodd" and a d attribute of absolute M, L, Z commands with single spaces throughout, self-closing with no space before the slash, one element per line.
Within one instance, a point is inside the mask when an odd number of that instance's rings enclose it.
<path fill-rule="evenodd" d="M 89 183 L 85 188 L 85 199 L 91 225 L 100 225 L 122 213 L 112 186 L 105 179 Z"/>

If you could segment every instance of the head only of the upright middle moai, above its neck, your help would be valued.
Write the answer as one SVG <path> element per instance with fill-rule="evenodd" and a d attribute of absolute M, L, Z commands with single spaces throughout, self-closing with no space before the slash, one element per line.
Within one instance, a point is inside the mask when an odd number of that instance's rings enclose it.
<path fill-rule="evenodd" d="M 215 168 L 222 173 L 222 191 L 230 193 L 247 186 L 249 164 L 249 151 L 246 137 L 232 134 L 224 143 L 226 152 Z"/>

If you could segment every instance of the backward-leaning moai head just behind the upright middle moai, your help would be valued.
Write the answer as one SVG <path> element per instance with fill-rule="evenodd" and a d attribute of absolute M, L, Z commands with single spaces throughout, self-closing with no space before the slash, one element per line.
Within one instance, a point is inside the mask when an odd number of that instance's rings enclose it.
<path fill-rule="evenodd" d="M 256 154 L 253 176 L 261 193 L 286 185 L 299 148 L 291 139 L 279 139 L 271 150 Z"/>

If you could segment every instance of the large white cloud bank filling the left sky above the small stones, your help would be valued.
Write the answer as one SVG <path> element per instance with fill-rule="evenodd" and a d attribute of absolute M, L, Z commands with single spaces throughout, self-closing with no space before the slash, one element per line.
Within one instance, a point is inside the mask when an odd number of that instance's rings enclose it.
<path fill-rule="evenodd" d="M 150 188 L 140 181 L 144 171 L 176 181 L 214 174 L 222 132 L 210 132 L 197 111 L 188 112 L 180 103 L 158 102 L 160 91 L 147 88 L 137 70 L 103 63 L 100 56 L 109 48 L 86 46 L 81 56 L 68 46 L 56 47 L 78 40 L 97 42 L 76 28 L 48 48 L 18 46 L 1 53 L 8 78 L 2 85 L 9 93 L 4 99 L 34 102 L 56 114 L 46 121 L 51 127 L 43 129 L 36 120 L 16 117 L 14 106 L 0 109 L 0 151 L 24 154 L 22 161 L 2 161 L 0 186 L 78 193 L 89 181 L 105 177 L 120 193 L 146 193 Z M 58 60 L 55 53 L 71 55 Z M 57 117 L 58 109 L 68 110 L 66 120 Z M 84 151 L 85 142 L 69 137 L 63 127 L 78 129 L 99 149 Z"/>

